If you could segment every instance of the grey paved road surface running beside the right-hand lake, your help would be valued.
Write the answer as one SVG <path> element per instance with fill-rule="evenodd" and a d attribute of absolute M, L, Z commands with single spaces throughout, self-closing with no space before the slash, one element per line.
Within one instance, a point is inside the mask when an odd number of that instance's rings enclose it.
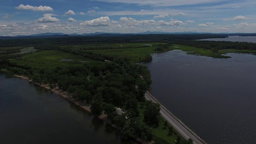
<path fill-rule="evenodd" d="M 146 92 L 145 94 L 146 100 L 151 100 L 152 102 L 156 102 L 152 96 Z M 192 132 L 190 132 L 187 128 L 185 128 L 178 120 L 176 120 L 169 112 L 167 112 L 161 105 L 160 105 L 160 114 L 169 122 L 172 127 L 177 130 L 186 140 L 191 138 L 194 141 L 194 144 L 204 144 L 201 140 L 199 140 Z"/>

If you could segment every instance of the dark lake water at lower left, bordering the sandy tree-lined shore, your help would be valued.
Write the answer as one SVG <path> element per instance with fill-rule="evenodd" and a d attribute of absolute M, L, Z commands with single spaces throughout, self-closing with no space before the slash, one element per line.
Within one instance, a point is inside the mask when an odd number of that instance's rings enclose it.
<path fill-rule="evenodd" d="M 0 144 L 127 144 L 68 100 L 0 72 Z"/>

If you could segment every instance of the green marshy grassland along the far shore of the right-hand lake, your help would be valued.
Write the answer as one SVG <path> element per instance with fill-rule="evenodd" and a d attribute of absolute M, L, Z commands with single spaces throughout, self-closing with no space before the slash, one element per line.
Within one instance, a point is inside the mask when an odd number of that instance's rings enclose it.
<path fill-rule="evenodd" d="M 174 48 L 179 47 L 179 48 Z M 212 53 L 211 50 L 205 50 L 203 48 L 195 48 L 192 46 L 184 46 L 180 44 L 173 44 L 170 46 L 170 50 L 183 50 L 185 52 L 188 52 L 188 54 L 197 54 L 201 56 L 209 56 L 213 58 L 230 58 L 230 56 L 222 56 L 221 54 L 226 53 L 251 53 L 256 54 L 256 50 L 234 50 L 234 49 L 224 49 L 224 50 L 218 50 L 216 53 Z"/>

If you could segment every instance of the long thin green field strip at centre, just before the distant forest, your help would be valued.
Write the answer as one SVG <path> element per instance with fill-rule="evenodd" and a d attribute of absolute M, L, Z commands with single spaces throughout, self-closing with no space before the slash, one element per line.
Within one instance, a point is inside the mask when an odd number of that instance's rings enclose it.
<path fill-rule="evenodd" d="M 98 48 L 98 47 L 113 47 L 113 48 L 122 48 L 122 47 L 130 47 L 130 46 L 142 46 L 143 44 L 165 44 L 159 42 L 151 42 L 151 43 L 127 43 L 127 44 L 83 44 L 83 45 L 76 45 L 73 48 Z"/>

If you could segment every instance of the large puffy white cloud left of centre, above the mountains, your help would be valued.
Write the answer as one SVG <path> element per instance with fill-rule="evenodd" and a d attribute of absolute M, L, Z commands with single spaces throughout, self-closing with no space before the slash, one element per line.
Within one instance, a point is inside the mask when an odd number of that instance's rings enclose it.
<path fill-rule="evenodd" d="M 96 18 L 93 20 L 88 20 L 80 23 L 83 26 L 108 26 L 110 24 L 110 19 L 108 16 Z"/>

